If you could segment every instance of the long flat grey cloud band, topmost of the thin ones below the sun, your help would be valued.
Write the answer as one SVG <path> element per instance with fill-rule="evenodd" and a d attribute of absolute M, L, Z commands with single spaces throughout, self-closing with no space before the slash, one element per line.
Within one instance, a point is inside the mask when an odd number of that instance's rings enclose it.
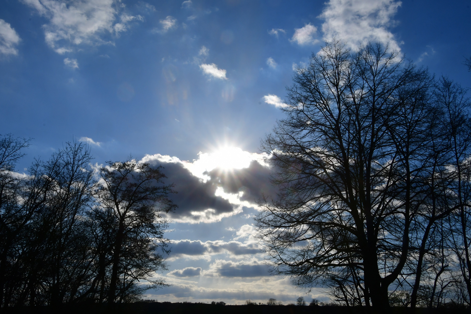
<path fill-rule="evenodd" d="M 206 241 L 199 240 L 179 240 L 171 242 L 170 257 L 177 257 L 180 255 L 204 255 L 204 254 L 219 254 L 222 252 L 229 252 L 234 255 L 247 255 L 260 253 L 256 243 L 241 243 L 237 241 Z"/>

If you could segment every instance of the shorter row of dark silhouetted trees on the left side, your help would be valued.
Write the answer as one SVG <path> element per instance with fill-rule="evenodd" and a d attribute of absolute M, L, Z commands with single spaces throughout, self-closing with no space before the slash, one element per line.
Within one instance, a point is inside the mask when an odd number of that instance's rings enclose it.
<path fill-rule="evenodd" d="M 73 142 L 18 173 L 28 145 L 0 137 L 0 306 L 130 302 L 164 285 L 159 212 L 175 205 L 160 168 L 92 166 L 89 147 Z"/>

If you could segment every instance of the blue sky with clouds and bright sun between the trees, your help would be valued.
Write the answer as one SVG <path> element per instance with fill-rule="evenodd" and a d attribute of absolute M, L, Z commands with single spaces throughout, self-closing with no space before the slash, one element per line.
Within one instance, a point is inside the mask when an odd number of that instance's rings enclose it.
<path fill-rule="evenodd" d="M 470 1 L 2 0 L 0 134 L 33 138 L 18 169 L 73 139 L 94 162 L 162 165 L 179 192 L 171 284 L 159 301 L 327 301 L 269 273 L 253 217 L 269 183 L 259 151 L 325 40 L 389 45 L 465 88 Z"/>

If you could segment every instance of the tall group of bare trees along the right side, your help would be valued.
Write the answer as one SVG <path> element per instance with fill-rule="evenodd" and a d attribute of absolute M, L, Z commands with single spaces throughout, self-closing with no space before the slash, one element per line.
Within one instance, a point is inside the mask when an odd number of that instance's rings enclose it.
<path fill-rule="evenodd" d="M 470 306 L 467 89 L 339 40 L 293 81 L 262 145 L 280 192 L 256 224 L 275 271 L 345 306 Z"/>

